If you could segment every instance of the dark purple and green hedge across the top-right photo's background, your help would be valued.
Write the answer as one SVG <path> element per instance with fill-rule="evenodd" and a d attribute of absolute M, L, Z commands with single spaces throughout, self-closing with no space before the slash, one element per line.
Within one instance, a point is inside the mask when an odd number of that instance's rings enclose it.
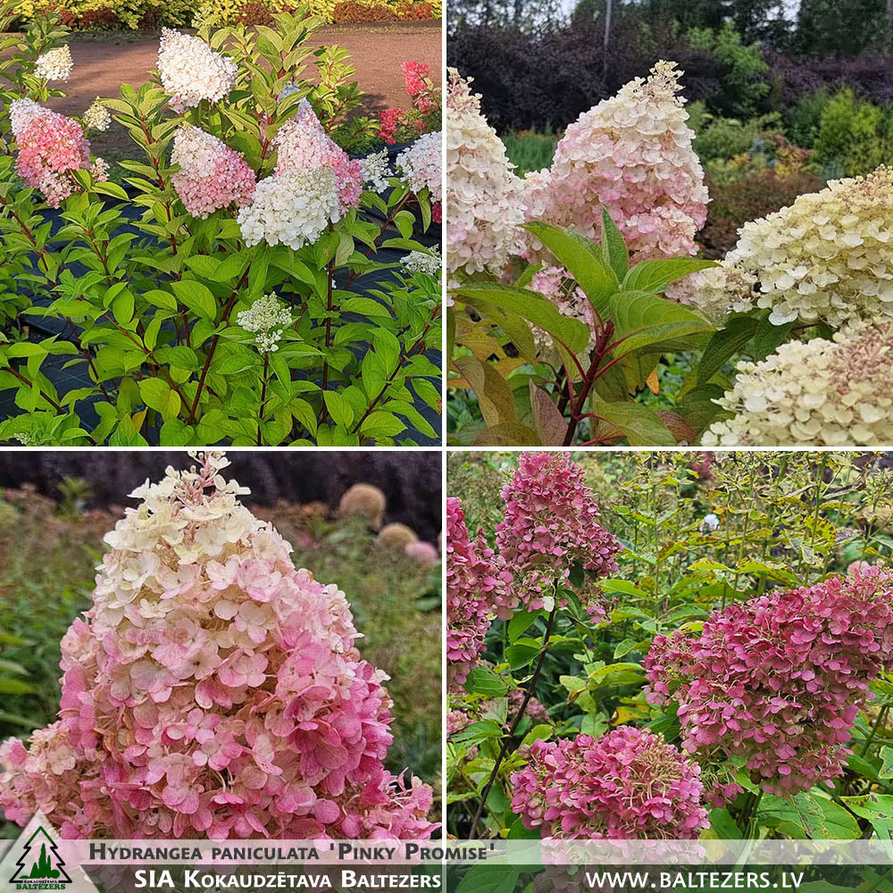
<path fill-rule="evenodd" d="M 527 33 L 517 29 L 458 25 L 447 40 L 447 64 L 475 79 L 483 111 L 497 130 L 563 128 L 623 84 L 644 77 L 659 59 L 684 71 L 689 101 L 702 99 L 711 113 L 749 118 L 789 110 L 817 88 L 853 88 L 857 96 L 893 99 L 893 58 L 793 59 L 758 44 L 742 45 L 731 29 L 715 36 L 682 32 L 672 21 L 644 28 L 622 16 L 602 52 L 600 21 Z"/>

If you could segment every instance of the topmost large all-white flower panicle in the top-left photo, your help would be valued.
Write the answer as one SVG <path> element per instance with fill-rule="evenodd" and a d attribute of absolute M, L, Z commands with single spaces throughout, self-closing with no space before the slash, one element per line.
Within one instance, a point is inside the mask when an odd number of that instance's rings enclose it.
<path fill-rule="evenodd" d="M 203 99 L 219 102 L 236 86 L 237 71 L 235 62 L 214 52 L 203 40 L 162 29 L 158 72 L 174 111 L 195 108 Z"/>

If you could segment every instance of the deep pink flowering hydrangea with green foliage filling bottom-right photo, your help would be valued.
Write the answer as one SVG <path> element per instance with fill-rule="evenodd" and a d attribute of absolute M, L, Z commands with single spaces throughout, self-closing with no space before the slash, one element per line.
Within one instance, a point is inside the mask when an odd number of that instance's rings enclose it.
<path fill-rule="evenodd" d="M 452 833 L 882 830 L 893 808 L 886 460 L 467 455 L 476 462 L 447 462 L 465 508 L 461 529 L 447 526 Z M 498 521 L 473 497 L 497 489 Z M 463 637 L 473 647 L 450 651 Z"/>

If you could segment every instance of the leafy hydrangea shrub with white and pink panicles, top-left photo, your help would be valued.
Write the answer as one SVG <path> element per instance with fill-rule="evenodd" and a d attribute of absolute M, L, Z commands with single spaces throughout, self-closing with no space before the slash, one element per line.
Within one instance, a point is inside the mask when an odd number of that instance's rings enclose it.
<path fill-rule="evenodd" d="M 4 28 L 12 4 L 0 0 Z M 0 61 L 4 266 L 28 271 L 4 280 L 19 324 L 0 336 L 0 390 L 17 412 L 0 438 L 437 438 L 421 410 L 439 407 L 440 261 L 419 238 L 438 216 L 438 135 L 407 146 L 394 171 L 351 158 L 338 140 L 369 121 L 354 114 L 346 52 L 308 46 L 319 19 L 280 13 L 263 34 L 213 21 L 196 35 L 163 29 L 154 80 L 79 118 L 45 105 L 62 95 L 49 79 L 70 73 L 57 17 L 31 23 Z M 91 153 L 91 129 L 110 117 L 140 155 L 121 162 L 127 190 Z M 52 238 L 47 205 L 64 221 Z M 281 305 L 277 324 L 243 327 L 265 301 Z M 54 334 L 39 337 L 35 319 Z M 82 383 L 60 390 L 51 363 Z"/>

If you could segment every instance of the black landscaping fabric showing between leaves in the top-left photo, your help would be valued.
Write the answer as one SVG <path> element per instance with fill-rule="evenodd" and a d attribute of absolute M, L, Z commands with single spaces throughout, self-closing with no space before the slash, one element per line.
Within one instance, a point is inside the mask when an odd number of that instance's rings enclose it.
<path fill-rule="evenodd" d="M 402 148 L 402 146 L 392 146 L 389 148 L 388 154 L 393 157 L 394 155 L 396 155 L 396 152 L 398 152 L 400 148 Z M 131 188 L 125 187 L 125 189 L 127 189 L 129 193 L 135 194 L 135 191 Z M 134 204 L 127 204 L 124 209 L 124 216 L 130 220 L 138 220 L 142 216 L 142 213 L 143 209 Z M 54 233 L 63 225 L 63 221 L 61 219 L 59 211 L 49 208 L 43 213 L 43 216 L 45 220 L 52 222 Z M 366 219 L 379 224 L 384 221 L 384 218 L 375 211 L 363 212 L 363 216 Z M 134 232 L 138 234 L 139 238 L 143 239 L 144 241 L 147 238 L 146 233 L 138 230 L 136 226 L 124 225 L 118 231 Z M 384 241 L 388 238 L 399 237 L 400 233 L 396 230 L 396 228 L 390 227 L 388 228 L 388 230 L 386 230 L 382 240 Z M 437 223 L 432 223 L 426 233 L 422 233 L 420 230 L 417 230 L 413 234 L 413 238 L 421 243 L 421 245 L 424 245 L 426 247 L 439 246 L 441 240 L 441 227 Z M 380 263 L 399 263 L 404 256 L 405 251 L 399 251 L 393 248 L 382 248 L 375 255 L 375 258 L 377 261 L 380 261 Z M 87 271 L 86 268 L 79 263 L 72 263 L 69 269 L 71 269 L 72 273 L 76 277 Z M 378 300 L 378 298 L 376 298 L 375 296 L 370 295 L 369 291 L 371 289 L 379 287 L 380 284 L 386 280 L 395 280 L 396 277 L 394 273 L 395 271 L 385 270 L 367 273 L 364 276 L 358 276 L 354 280 L 351 286 L 351 290 L 355 291 L 357 294 L 369 296 L 375 300 Z M 342 288 L 344 286 L 348 275 L 348 271 L 338 271 L 336 275 L 336 284 L 338 288 Z M 44 298 L 36 303 L 38 305 L 48 306 L 52 304 L 52 302 L 52 298 Z M 365 317 L 356 313 L 344 313 L 342 318 L 350 322 L 362 322 L 366 320 Z M 53 317 L 29 317 L 27 318 L 27 324 L 29 326 L 29 329 L 34 332 L 36 337 L 38 337 L 38 340 L 51 335 L 59 335 L 60 338 L 71 340 L 71 329 L 68 327 L 67 323 L 61 320 L 54 319 Z M 374 324 L 370 322 L 370 325 Z M 441 365 L 442 356 L 439 350 L 428 351 L 426 352 L 426 356 L 432 363 L 435 363 L 435 365 Z M 70 391 L 72 388 L 87 388 L 91 385 L 87 363 L 76 363 L 70 366 L 68 369 L 63 369 L 65 363 L 68 363 L 69 361 L 71 361 L 71 356 L 51 355 L 46 357 L 46 360 L 41 366 L 41 371 L 43 371 L 46 377 L 53 382 L 60 395 L 63 395 L 67 391 Z M 432 379 L 431 382 L 439 390 L 439 380 Z M 21 412 L 21 410 L 15 405 L 14 396 L 14 389 L 0 392 L 0 420 L 7 419 L 13 415 L 18 415 Z M 415 405 L 419 413 L 421 413 L 421 415 L 430 422 L 430 425 L 434 430 L 442 430 L 441 418 L 438 416 L 436 410 L 432 409 L 429 405 L 423 403 L 419 399 L 416 399 Z M 98 423 L 96 413 L 92 410 L 88 401 L 81 401 L 78 404 L 78 412 L 80 420 L 82 422 L 82 427 L 84 427 L 86 430 L 92 430 Z M 405 430 L 403 434 L 400 435 L 400 437 L 413 438 L 414 441 L 416 441 L 420 446 L 423 447 L 439 446 L 440 444 L 439 438 L 427 437 L 421 434 L 420 431 L 413 430 L 412 427 L 409 427 L 407 430 Z M 213 445 L 207 444 L 204 446 Z"/>

